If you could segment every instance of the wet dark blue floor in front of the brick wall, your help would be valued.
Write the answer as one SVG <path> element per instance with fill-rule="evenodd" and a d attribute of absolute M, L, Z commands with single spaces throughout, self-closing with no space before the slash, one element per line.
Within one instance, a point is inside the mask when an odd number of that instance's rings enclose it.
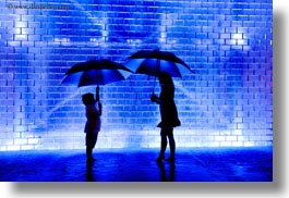
<path fill-rule="evenodd" d="M 167 153 L 167 156 L 169 152 Z M 1 182 L 273 182 L 272 148 L 178 148 L 176 162 L 156 163 L 158 149 L 0 152 Z"/>

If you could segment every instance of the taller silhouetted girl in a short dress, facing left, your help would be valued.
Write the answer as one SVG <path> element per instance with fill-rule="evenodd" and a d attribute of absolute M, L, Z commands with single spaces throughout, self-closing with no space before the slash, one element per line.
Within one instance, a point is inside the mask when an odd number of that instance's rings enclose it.
<path fill-rule="evenodd" d="M 157 125 L 160 127 L 160 152 L 157 162 L 165 159 L 165 151 L 169 139 L 170 157 L 167 161 L 174 161 L 176 143 L 173 138 L 173 127 L 180 126 L 181 122 L 178 117 L 178 110 L 174 103 L 174 85 L 168 72 L 160 72 L 158 77 L 161 86 L 159 97 L 152 95 L 150 100 L 159 104 L 161 122 Z"/>

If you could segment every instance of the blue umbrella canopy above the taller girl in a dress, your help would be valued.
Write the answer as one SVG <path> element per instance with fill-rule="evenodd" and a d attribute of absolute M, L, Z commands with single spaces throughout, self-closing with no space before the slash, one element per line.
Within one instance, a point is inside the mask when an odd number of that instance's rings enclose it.
<path fill-rule="evenodd" d="M 172 52 L 160 50 L 140 50 L 129 57 L 124 65 L 139 74 L 158 76 L 161 71 L 168 72 L 172 77 L 182 77 L 190 73 L 190 66 Z"/>

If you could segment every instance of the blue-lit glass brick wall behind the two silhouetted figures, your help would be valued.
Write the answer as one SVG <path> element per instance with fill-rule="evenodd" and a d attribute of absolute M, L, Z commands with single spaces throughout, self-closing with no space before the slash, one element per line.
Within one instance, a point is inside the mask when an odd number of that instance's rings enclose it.
<path fill-rule="evenodd" d="M 0 150 L 83 148 L 81 95 L 95 87 L 61 85 L 65 71 L 155 48 L 193 71 L 174 78 L 178 147 L 273 145 L 270 0 L 7 0 L 0 10 Z M 133 74 L 100 87 L 97 147 L 159 147 L 153 82 Z"/>

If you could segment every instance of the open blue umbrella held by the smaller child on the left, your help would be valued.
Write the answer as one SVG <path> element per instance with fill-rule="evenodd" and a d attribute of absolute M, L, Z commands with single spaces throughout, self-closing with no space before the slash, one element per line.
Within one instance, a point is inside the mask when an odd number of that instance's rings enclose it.
<path fill-rule="evenodd" d="M 79 87 L 97 85 L 96 98 L 99 100 L 99 85 L 125 79 L 130 74 L 131 71 L 124 65 L 108 59 L 91 60 L 69 69 L 61 84 Z"/>

